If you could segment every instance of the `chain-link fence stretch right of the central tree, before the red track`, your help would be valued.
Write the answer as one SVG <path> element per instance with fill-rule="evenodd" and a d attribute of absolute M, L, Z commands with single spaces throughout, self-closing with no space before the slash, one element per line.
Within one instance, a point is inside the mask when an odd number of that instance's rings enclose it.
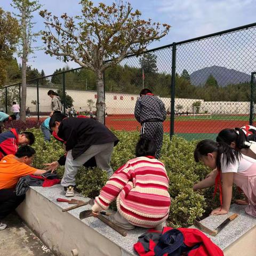
<path fill-rule="evenodd" d="M 171 135 L 215 139 L 222 129 L 253 125 L 255 44 L 254 23 L 126 58 L 106 79 L 106 92 L 123 93 L 109 103 L 118 112 L 106 124 L 138 129 L 130 97 L 147 87 L 165 103 L 164 131 Z"/>

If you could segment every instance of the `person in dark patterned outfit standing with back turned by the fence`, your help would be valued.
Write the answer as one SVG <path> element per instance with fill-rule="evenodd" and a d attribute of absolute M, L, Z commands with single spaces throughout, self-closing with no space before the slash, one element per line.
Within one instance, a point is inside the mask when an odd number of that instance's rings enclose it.
<path fill-rule="evenodd" d="M 157 146 L 156 158 L 158 159 L 163 144 L 163 122 L 166 119 L 163 101 L 149 89 L 142 89 L 140 98 L 135 105 L 134 116 L 141 124 L 141 138 L 155 141 Z"/>

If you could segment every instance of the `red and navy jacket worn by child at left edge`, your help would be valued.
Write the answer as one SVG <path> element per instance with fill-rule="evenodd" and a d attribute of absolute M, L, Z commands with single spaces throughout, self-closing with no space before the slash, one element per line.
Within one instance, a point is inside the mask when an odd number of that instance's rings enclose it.
<path fill-rule="evenodd" d="M 17 129 L 0 134 L 0 160 L 6 155 L 15 155 L 18 150 L 19 134 Z"/>

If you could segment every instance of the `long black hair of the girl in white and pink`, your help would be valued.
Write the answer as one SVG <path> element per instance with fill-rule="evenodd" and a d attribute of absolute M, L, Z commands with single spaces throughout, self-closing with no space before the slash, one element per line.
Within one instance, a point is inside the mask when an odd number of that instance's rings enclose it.
<path fill-rule="evenodd" d="M 199 162 L 203 156 L 207 156 L 209 153 L 217 152 L 216 166 L 217 169 L 221 170 L 222 159 L 225 159 L 226 165 L 235 163 L 239 158 L 240 153 L 237 150 L 231 148 L 225 142 L 215 142 L 213 140 L 202 140 L 200 141 L 194 151 L 194 158 L 196 162 Z M 222 159 L 221 159 L 222 156 Z"/>

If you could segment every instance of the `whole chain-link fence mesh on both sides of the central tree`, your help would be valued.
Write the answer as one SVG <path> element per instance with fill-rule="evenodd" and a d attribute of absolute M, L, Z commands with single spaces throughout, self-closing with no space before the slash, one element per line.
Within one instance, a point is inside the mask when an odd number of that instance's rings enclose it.
<path fill-rule="evenodd" d="M 130 56 L 105 71 L 105 124 L 134 131 L 135 102 L 143 88 L 162 99 L 167 110 L 164 132 L 186 139 L 214 139 L 228 127 L 253 125 L 256 75 L 256 23 L 173 43 Z M 50 113 L 47 91 L 57 91 L 68 116 L 95 116 L 93 71 L 78 68 L 27 82 L 31 116 Z M 1 106 L 11 113 L 20 102 L 20 84 L 0 91 Z"/>

